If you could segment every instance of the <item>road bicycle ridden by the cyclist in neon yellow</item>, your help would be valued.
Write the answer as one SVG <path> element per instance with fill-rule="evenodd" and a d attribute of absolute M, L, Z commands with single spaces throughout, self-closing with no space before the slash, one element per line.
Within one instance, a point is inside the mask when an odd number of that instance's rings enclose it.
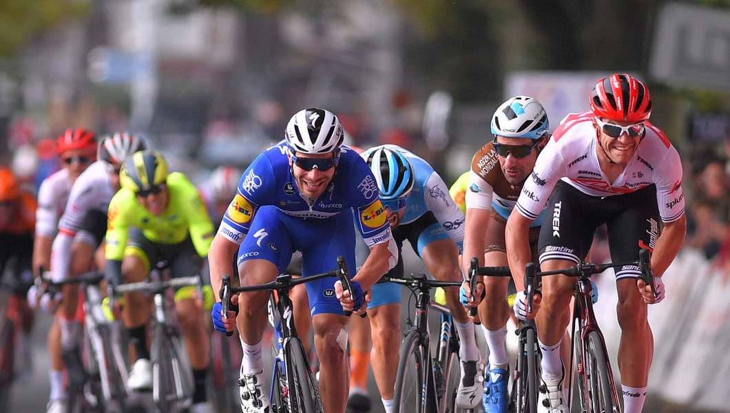
<path fill-rule="evenodd" d="M 166 263 L 157 266 L 161 277 Z M 158 412 L 185 412 L 191 404 L 193 377 L 188 358 L 183 352 L 180 331 L 174 314 L 168 309 L 168 290 L 180 287 L 196 287 L 198 296 L 203 297 L 202 282 L 199 275 L 172 279 L 150 279 L 141 282 L 128 282 L 112 286 L 110 308 L 114 298 L 121 294 L 142 292 L 153 296 L 153 339 L 150 350 L 152 363 L 152 395 Z"/>

